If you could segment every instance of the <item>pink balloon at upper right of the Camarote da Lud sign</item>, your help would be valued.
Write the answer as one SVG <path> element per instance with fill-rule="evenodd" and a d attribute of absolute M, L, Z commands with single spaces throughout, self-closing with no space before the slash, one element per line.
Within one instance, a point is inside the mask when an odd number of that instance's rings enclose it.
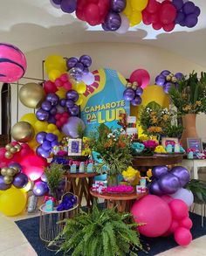
<path fill-rule="evenodd" d="M 137 69 L 131 74 L 129 81 L 131 83 L 137 82 L 141 88 L 145 88 L 148 86 L 150 82 L 150 76 L 147 70 L 145 69 Z"/>

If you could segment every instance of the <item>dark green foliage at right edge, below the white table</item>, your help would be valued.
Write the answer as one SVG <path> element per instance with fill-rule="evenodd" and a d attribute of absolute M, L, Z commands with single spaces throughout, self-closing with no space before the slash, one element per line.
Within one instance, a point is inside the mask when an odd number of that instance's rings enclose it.
<path fill-rule="evenodd" d="M 195 197 L 196 203 L 200 203 L 200 204 L 206 203 L 206 183 L 205 182 L 192 179 L 187 184 L 187 189 L 192 191 Z"/>

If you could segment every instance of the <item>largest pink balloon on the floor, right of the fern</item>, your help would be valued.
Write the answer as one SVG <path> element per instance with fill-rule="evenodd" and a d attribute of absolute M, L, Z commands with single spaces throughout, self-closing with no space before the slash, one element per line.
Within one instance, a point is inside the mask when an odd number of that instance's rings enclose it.
<path fill-rule="evenodd" d="M 172 223 L 171 211 L 161 197 L 148 195 L 134 202 L 131 213 L 137 223 L 139 232 L 147 237 L 159 237 L 168 231 Z"/>

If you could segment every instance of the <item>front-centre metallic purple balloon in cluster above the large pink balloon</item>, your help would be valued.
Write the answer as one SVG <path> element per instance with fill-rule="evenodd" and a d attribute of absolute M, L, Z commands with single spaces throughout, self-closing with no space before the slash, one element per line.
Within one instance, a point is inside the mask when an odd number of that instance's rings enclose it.
<path fill-rule="evenodd" d="M 174 194 L 181 187 L 178 177 L 171 173 L 161 176 L 158 183 L 164 194 Z"/>

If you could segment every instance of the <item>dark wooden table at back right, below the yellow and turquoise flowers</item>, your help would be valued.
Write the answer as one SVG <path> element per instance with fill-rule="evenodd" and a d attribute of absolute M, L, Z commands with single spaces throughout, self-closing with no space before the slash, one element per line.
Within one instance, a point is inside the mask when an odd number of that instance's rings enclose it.
<path fill-rule="evenodd" d="M 134 156 L 132 165 L 135 169 L 147 171 L 158 165 L 174 165 L 182 163 L 184 154 L 156 154 L 154 156 Z"/>

